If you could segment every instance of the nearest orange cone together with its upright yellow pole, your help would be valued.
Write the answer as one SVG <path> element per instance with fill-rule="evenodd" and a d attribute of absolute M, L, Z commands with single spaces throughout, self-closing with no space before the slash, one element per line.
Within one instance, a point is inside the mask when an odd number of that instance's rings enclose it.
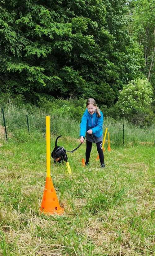
<path fill-rule="evenodd" d="M 47 160 L 47 177 L 45 183 L 45 189 L 42 197 L 42 204 L 40 211 L 44 214 L 63 214 L 64 209 L 60 207 L 59 200 L 57 198 L 50 169 L 50 117 L 46 116 L 46 160 Z"/>

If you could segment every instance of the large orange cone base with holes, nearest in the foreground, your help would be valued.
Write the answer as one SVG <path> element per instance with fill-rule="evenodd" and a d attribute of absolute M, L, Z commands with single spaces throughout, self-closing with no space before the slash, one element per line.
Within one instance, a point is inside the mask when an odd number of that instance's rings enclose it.
<path fill-rule="evenodd" d="M 64 209 L 60 207 L 51 177 L 46 178 L 40 211 L 49 215 L 64 213 Z"/>

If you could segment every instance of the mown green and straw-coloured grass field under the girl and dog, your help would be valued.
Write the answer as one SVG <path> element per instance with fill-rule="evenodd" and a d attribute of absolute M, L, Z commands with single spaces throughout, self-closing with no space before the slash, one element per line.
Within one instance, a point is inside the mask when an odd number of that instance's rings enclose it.
<path fill-rule="evenodd" d="M 51 175 L 64 207 L 62 216 L 40 213 L 46 179 L 46 141 L 26 133 L 0 141 L 0 255 L 155 255 L 153 145 L 114 147 L 105 169 L 92 147 L 68 153 L 72 175 L 51 159 Z M 21 134 L 20 134 L 21 135 Z M 56 136 L 51 137 L 51 149 Z M 61 137 L 71 150 L 79 140 Z"/>

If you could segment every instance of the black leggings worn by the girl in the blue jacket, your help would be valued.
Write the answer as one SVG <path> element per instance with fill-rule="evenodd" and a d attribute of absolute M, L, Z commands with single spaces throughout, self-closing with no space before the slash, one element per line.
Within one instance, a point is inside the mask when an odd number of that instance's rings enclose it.
<path fill-rule="evenodd" d="M 91 154 L 91 147 L 92 147 L 92 142 L 86 140 L 86 163 L 89 162 L 90 154 Z M 100 163 L 101 165 L 104 164 L 104 154 L 102 150 L 102 141 L 99 141 L 96 143 L 97 151 L 99 153 L 100 157 Z"/>

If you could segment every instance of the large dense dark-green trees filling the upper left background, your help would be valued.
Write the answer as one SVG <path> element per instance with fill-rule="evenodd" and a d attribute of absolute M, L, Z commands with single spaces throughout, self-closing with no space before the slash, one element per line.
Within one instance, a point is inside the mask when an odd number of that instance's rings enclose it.
<path fill-rule="evenodd" d="M 143 66 L 141 49 L 126 29 L 126 3 L 1 1 L 0 91 L 32 102 L 41 93 L 91 95 L 112 105 Z"/>

